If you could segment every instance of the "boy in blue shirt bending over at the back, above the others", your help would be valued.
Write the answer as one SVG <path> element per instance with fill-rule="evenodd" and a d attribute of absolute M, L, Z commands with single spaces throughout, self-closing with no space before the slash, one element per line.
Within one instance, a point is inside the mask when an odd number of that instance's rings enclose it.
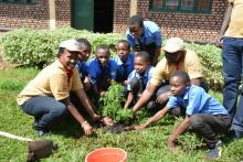
<path fill-rule="evenodd" d="M 152 21 L 144 21 L 139 15 L 128 19 L 126 37 L 134 52 L 146 51 L 150 56 L 150 63 L 156 66 L 162 44 L 159 26 Z"/>

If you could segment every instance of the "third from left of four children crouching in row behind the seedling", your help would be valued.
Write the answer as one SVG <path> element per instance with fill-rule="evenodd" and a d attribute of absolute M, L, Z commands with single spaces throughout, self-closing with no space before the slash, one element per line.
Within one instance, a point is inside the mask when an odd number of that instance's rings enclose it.
<path fill-rule="evenodd" d="M 117 82 L 127 85 L 127 77 L 134 71 L 134 53 L 126 40 L 116 44 L 117 55 L 113 58 L 117 64 Z"/>

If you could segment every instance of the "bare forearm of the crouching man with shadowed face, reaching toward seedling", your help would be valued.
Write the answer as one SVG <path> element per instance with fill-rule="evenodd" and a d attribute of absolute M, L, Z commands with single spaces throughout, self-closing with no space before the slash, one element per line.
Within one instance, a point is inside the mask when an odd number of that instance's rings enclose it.
<path fill-rule="evenodd" d="M 134 114 L 140 109 L 152 96 L 152 94 L 156 91 L 157 86 L 149 84 L 144 93 L 141 94 L 141 97 L 138 99 L 136 105 L 133 107 Z"/>

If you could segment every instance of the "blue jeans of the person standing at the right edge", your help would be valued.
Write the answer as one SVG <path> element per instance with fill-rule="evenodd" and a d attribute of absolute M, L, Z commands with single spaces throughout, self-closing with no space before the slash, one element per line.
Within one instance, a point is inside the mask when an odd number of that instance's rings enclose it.
<path fill-rule="evenodd" d="M 240 84 L 243 74 L 243 39 L 223 39 L 223 106 L 228 109 L 232 118 L 234 130 L 243 131 L 243 89 Z"/>

